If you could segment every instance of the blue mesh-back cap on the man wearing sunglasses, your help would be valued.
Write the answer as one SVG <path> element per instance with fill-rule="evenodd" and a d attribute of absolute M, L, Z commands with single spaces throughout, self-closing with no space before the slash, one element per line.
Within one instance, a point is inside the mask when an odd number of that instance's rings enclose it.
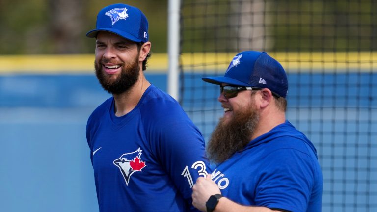
<path fill-rule="evenodd" d="M 223 77 L 204 77 L 203 81 L 221 85 L 268 88 L 281 97 L 288 92 L 288 79 L 283 66 L 265 52 L 238 53 Z"/>

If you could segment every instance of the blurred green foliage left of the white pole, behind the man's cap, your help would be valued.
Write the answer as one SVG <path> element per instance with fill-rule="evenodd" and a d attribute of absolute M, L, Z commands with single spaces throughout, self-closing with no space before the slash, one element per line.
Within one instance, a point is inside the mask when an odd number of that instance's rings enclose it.
<path fill-rule="evenodd" d="M 0 0 L 0 54 L 94 53 L 85 36 L 97 13 L 119 0 Z M 166 52 L 167 0 L 128 0 L 149 21 L 152 51 Z M 60 11 L 59 9 L 62 9 Z"/>

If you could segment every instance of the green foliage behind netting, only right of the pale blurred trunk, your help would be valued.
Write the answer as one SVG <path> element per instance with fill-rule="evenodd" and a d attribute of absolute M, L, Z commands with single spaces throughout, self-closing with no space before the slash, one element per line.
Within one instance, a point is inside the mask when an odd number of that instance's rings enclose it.
<path fill-rule="evenodd" d="M 376 3 L 371 0 L 274 1 L 269 16 L 274 20 L 276 51 L 376 50 Z"/>

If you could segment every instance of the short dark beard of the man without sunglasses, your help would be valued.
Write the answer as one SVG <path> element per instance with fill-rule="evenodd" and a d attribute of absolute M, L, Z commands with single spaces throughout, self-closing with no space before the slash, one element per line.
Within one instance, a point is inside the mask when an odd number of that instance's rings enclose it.
<path fill-rule="evenodd" d="M 114 76 L 108 76 L 102 71 L 102 65 L 94 61 L 96 76 L 102 87 L 111 94 L 121 94 L 128 91 L 139 79 L 140 67 L 138 64 L 138 56 L 133 63 L 128 65 L 122 64 L 122 71 L 116 79 Z M 107 61 L 103 60 L 103 63 Z"/>

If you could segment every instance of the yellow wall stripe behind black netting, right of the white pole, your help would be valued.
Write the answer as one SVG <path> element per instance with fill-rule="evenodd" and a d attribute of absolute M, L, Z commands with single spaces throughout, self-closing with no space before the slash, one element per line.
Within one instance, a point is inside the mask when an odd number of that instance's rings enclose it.
<path fill-rule="evenodd" d="M 183 67 L 186 70 L 225 70 L 237 53 L 183 53 Z M 288 72 L 311 70 L 313 72 L 347 72 L 360 70 L 376 72 L 377 52 L 277 52 L 269 53 Z"/>

